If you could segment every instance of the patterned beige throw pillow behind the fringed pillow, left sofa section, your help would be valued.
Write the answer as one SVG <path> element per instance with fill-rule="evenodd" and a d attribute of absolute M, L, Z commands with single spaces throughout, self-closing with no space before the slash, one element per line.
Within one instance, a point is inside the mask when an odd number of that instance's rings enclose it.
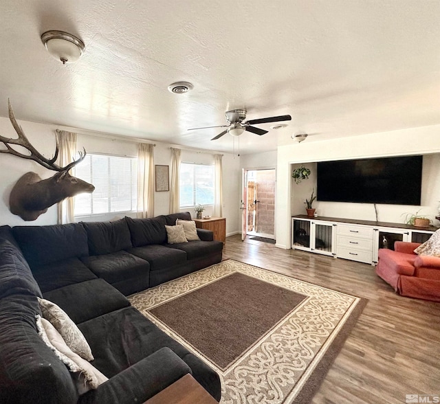
<path fill-rule="evenodd" d="M 58 330 L 58 333 L 61 334 L 67 346 L 76 354 L 80 355 L 80 357 L 87 361 L 93 361 L 94 356 L 91 355 L 91 348 L 87 340 L 67 313 L 49 300 L 41 298 L 38 298 L 38 300 L 43 317 L 49 320 L 56 330 Z"/>

